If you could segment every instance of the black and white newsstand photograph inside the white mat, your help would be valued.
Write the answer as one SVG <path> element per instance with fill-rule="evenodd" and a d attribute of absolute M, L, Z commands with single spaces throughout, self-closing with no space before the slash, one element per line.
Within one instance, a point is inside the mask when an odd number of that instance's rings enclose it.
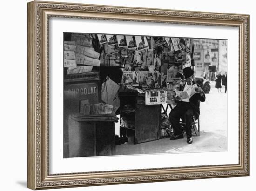
<path fill-rule="evenodd" d="M 228 42 L 214 42 L 64 33 L 64 158 L 227 151 Z"/>

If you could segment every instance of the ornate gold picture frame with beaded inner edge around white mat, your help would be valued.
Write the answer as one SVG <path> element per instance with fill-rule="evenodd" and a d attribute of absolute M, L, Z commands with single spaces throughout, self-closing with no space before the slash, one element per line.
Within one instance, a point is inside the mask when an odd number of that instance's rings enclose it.
<path fill-rule="evenodd" d="M 238 163 L 49 173 L 49 19 L 140 21 L 239 29 Z M 102 32 L 103 33 L 103 32 Z M 249 176 L 249 15 L 33 1 L 28 3 L 28 188 Z"/>

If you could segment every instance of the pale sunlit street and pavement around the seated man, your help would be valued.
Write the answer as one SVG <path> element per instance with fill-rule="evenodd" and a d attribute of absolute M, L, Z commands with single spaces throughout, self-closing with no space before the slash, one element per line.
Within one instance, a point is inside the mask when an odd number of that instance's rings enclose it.
<path fill-rule="evenodd" d="M 227 151 L 227 93 L 224 88 L 218 93 L 214 86 L 211 82 L 211 90 L 200 105 L 200 136 L 193 136 L 191 145 L 186 138 L 162 138 L 136 145 L 129 142 L 116 145 L 116 155 Z"/>

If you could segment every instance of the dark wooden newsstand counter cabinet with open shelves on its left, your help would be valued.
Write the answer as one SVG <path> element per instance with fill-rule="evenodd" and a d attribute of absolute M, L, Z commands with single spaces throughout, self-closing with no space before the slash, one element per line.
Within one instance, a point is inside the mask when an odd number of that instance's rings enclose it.
<path fill-rule="evenodd" d="M 119 93 L 120 117 L 134 118 L 134 128 L 120 127 L 120 136 L 134 137 L 134 144 L 160 138 L 161 105 L 145 105 L 145 94 Z M 124 106 L 130 104 L 134 112 L 124 112 Z"/>

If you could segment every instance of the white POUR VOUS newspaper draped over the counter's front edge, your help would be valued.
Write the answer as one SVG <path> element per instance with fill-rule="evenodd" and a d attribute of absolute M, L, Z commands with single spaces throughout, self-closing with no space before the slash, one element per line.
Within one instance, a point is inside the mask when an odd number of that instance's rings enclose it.
<path fill-rule="evenodd" d="M 151 90 L 145 92 L 146 105 L 165 104 L 167 101 L 167 91 L 165 90 Z"/>

